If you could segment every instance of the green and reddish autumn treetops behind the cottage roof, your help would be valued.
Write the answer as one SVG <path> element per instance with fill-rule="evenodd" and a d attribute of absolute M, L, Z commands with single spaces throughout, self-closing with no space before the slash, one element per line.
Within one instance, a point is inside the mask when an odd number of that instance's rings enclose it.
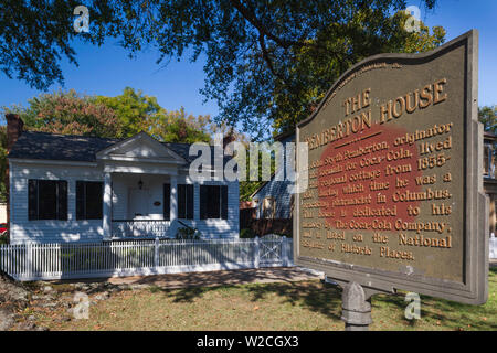
<path fill-rule="evenodd" d="M 209 116 L 192 116 L 181 108 L 167 111 L 156 97 L 126 87 L 116 97 L 84 96 L 74 89 L 41 94 L 29 106 L 3 107 L 24 121 L 27 130 L 64 135 L 126 138 L 146 131 L 165 142 L 210 142 L 214 129 Z M 0 126 L 0 173 L 7 168 L 6 127 Z M 0 201 L 6 200 L 4 178 L 0 178 Z"/>

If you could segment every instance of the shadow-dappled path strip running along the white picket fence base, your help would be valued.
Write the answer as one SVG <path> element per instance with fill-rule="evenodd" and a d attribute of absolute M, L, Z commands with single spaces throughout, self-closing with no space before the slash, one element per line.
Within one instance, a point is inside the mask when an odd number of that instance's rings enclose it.
<path fill-rule="evenodd" d="M 168 274 L 155 276 L 114 277 L 114 285 L 150 285 L 161 288 L 214 287 L 224 285 L 292 282 L 319 279 L 321 275 L 298 267 L 271 267 L 226 271 Z"/>

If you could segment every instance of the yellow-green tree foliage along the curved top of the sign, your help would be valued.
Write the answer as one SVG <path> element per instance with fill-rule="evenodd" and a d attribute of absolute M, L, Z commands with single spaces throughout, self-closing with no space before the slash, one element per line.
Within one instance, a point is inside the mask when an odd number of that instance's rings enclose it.
<path fill-rule="evenodd" d="M 357 21 L 366 22 L 366 28 L 382 26 L 380 22 L 376 23 L 380 19 L 374 15 L 372 10 L 364 10 L 364 12 L 357 14 Z M 381 35 L 377 36 L 376 32 L 363 33 L 360 29 L 353 29 L 348 33 L 347 30 L 337 29 L 336 24 L 332 24 L 322 31 L 320 34 L 324 36 L 322 39 L 313 41 L 316 45 L 299 47 L 295 53 L 296 58 L 290 71 L 290 78 L 285 83 L 276 81 L 274 85 L 274 107 L 269 116 L 275 132 L 295 130 L 299 121 L 310 116 L 339 76 L 367 56 L 389 52 L 424 52 L 433 50 L 444 42 L 445 30 L 443 28 L 433 28 L 433 34 L 431 34 L 430 29 L 421 23 L 420 32 L 408 33 L 403 31 L 405 20 L 406 17 L 399 12 L 389 21 L 389 25 L 396 28 L 398 32 L 385 33 L 388 40 Z M 381 31 L 387 30 L 382 29 Z M 390 29 L 387 32 L 390 32 Z M 336 53 L 336 55 L 335 57 L 322 55 L 321 52 Z"/>

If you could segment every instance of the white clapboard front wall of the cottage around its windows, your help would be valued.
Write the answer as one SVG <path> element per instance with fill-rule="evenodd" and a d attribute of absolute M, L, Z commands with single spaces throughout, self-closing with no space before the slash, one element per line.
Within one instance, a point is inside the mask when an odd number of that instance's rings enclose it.
<path fill-rule="evenodd" d="M 184 172 L 187 173 L 187 171 Z M 139 174 L 141 175 L 141 174 Z M 135 175 L 136 176 L 136 175 Z M 146 186 L 150 188 L 150 212 L 152 218 L 162 217 L 162 205 L 154 206 L 155 201 L 162 201 L 162 183 L 169 181 L 166 174 L 142 174 Z M 28 220 L 28 180 L 65 180 L 67 181 L 67 221 L 29 221 Z M 136 178 L 135 178 L 136 179 Z M 11 244 L 53 244 L 53 243 L 96 243 L 103 239 L 101 220 L 76 220 L 76 181 L 104 181 L 102 169 L 92 165 L 55 165 L 44 163 L 10 162 L 10 242 Z M 126 174 L 113 174 L 113 218 L 128 218 L 129 180 Z M 188 175 L 178 175 L 178 183 L 192 183 Z M 203 182 L 201 182 L 203 183 Z M 228 185 L 228 220 L 200 220 L 199 183 L 194 183 L 194 220 L 184 221 L 198 228 L 204 238 L 237 238 L 239 183 L 204 182 L 205 184 Z M 158 207 L 157 210 L 155 207 Z M 171 228 L 169 237 L 176 236 Z"/>

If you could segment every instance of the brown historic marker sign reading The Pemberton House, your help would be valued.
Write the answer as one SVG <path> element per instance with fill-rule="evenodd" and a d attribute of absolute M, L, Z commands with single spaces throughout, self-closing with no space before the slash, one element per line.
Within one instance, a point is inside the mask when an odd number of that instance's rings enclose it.
<path fill-rule="evenodd" d="M 467 303 L 487 298 L 477 32 L 345 73 L 297 127 L 296 263 L 329 278 Z"/>

